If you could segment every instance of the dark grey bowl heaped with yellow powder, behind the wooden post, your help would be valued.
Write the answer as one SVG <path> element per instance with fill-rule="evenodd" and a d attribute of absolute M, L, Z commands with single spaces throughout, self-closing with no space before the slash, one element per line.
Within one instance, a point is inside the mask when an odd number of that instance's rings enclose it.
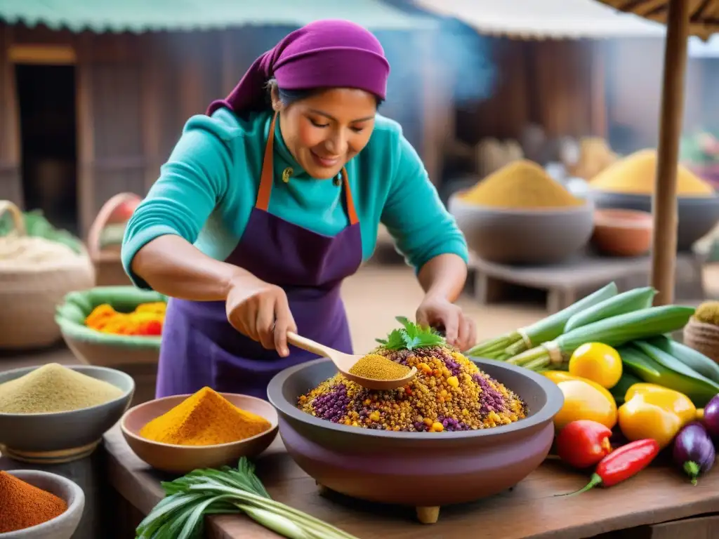
<path fill-rule="evenodd" d="M 589 182 L 589 198 L 597 208 L 651 213 L 656 179 L 656 150 L 643 149 L 623 157 Z M 677 249 L 689 251 L 719 222 L 719 196 L 713 186 L 684 165 L 677 167 Z"/>

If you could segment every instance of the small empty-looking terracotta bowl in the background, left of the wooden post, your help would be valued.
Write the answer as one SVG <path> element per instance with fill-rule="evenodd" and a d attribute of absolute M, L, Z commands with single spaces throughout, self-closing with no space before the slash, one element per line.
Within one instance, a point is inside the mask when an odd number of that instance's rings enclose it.
<path fill-rule="evenodd" d="M 651 249 L 654 221 L 646 211 L 603 209 L 594 212 L 592 244 L 602 254 L 639 257 Z"/>

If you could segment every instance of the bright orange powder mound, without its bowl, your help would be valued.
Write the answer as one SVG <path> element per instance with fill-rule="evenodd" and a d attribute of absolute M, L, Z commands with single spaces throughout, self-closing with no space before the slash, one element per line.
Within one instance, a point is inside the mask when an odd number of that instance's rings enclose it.
<path fill-rule="evenodd" d="M 214 446 L 257 436 L 271 427 L 260 415 L 241 410 L 218 392 L 203 387 L 147 423 L 139 436 L 173 446 Z"/>

